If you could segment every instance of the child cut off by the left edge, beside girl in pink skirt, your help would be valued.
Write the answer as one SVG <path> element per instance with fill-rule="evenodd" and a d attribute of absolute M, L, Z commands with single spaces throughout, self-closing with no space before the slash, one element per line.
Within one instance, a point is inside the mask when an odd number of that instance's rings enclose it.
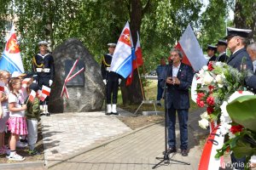
<path fill-rule="evenodd" d="M 4 130 L 6 129 L 6 122 L 9 119 L 8 109 L 8 95 L 9 88 L 7 87 L 10 74 L 8 71 L 0 71 L 0 81 L 4 83 L 4 90 L 0 91 L 0 154 L 5 154 L 8 147 L 4 145 Z"/>

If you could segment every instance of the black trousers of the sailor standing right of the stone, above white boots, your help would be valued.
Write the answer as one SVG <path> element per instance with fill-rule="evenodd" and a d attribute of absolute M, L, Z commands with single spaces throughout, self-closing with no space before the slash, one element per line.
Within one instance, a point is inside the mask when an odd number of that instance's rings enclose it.
<path fill-rule="evenodd" d="M 111 104 L 111 97 L 112 97 L 112 104 L 117 103 L 117 95 L 119 90 L 119 79 L 108 79 L 107 82 L 107 104 Z"/>

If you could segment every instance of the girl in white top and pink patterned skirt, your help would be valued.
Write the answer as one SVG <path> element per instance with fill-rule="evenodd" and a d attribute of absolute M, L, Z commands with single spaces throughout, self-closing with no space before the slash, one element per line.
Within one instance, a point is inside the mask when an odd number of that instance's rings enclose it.
<path fill-rule="evenodd" d="M 26 105 L 20 104 L 21 81 L 19 78 L 11 78 L 9 81 L 9 131 L 11 133 L 9 139 L 10 155 L 9 160 L 23 161 L 25 158 L 16 153 L 16 142 L 19 141 L 20 135 L 27 134 L 25 111 Z"/>

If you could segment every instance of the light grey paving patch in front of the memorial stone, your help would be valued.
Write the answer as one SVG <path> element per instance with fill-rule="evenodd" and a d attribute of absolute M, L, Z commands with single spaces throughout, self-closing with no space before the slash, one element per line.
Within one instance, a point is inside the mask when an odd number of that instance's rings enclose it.
<path fill-rule="evenodd" d="M 42 117 L 45 165 L 77 155 L 91 144 L 131 131 L 115 116 L 100 112 L 62 113 Z"/>

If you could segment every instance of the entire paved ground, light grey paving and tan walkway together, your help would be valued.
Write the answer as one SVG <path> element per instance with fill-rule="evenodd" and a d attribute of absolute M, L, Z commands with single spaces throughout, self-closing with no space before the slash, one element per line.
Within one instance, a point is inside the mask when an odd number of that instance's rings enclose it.
<path fill-rule="evenodd" d="M 170 155 L 171 159 L 189 162 L 190 165 L 171 161 L 170 164 L 160 164 L 156 169 L 197 169 L 201 157 L 199 139 L 208 133 L 198 127 L 201 112 L 189 113 L 189 156 L 181 156 L 180 150 Z M 131 114 L 122 110 L 119 113 L 122 116 Z M 159 162 L 155 157 L 163 156 L 162 151 L 165 150 L 164 123 L 132 131 L 116 116 L 105 116 L 103 111 L 53 114 L 42 117 L 41 123 L 44 162 L 53 170 L 147 170 Z M 178 125 L 176 129 L 179 136 Z M 20 162 L 13 166 L 4 169 L 44 169 L 42 163 L 40 166 Z"/>

